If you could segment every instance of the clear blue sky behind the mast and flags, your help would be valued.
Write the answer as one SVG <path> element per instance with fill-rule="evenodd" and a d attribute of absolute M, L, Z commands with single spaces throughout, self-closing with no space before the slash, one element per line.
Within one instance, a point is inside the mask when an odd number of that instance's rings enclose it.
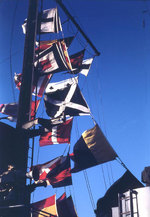
<path fill-rule="evenodd" d="M 94 59 L 87 79 L 80 76 L 79 86 L 82 93 L 108 141 L 128 169 L 140 180 L 141 171 L 145 166 L 150 166 L 150 2 L 63 2 L 101 52 L 101 55 Z M 54 6 L 54 1 L 44 0 L 44 9 Z M 12 77 L 14 72 L 22 71 L 25 36 L 21 25 L 27 17 L 27 10 L 27 0 L 0 1 L 0 104 L 14 102 L 12 86 L 15 86 Z M 65 20 L 61 10 L 60 17 Z M 65 30 L 64 34 L 67 36 Z M 71 46 L 70 54 L 82 49 L 79 42 L 83 39 L 81 36 L 79 38 L 80 40 Z M 53 80 L 65 78 L 66 75 L 57 74 Z M 17 101 L 19 92 L 15 88 L 14 93 Z M 37 116 L 43 114 L 47 117 L 43 113 L 42 103 Z M 71 150 L 82 132 L 92 126 L 90 117 L 75 118 Z M 34 162 L 37 163 L 38 139 L 35 146 Z M 38 162 L 44 163 L 61 155 L 65 147 L 64 144 L 40 148 Z M 116 161 L 87 170 L 95 204 L 113 180 L 119 178 L 124 171 Z M 67 187 L 66 191 L 67 195 L 71 192 L 75 198 L 79 217 L 94 217 L 82 172 L 73 175 L 73 186 Z M 55 192 L 59 197 L 63 190 L 42 188 L 35 191 L 34 201 Z"/>

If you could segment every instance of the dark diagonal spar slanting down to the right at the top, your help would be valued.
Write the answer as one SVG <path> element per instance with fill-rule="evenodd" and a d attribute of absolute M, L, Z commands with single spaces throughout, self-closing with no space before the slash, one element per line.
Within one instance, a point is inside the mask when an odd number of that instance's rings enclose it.
<path fill-rule="evenodd" d="M 88 36 L 83 32 L 83 30 L 81 29 L 81 27 L 79 26 L 79 24 L 76 22 L 76 20 L 74 19 L 74 17 L 69 13 L 68 9 L 65 7 L 65 5 L 62 3 L 62 0 L 56 0 L 56 2 L 59 4 L 59 6 L 62 8 L 62 10 L 65 12 L 65 14 L 71 19 L 71 21 L 73 22 L 73 24 L 77 27 L 77 29 L 80 31 L 80 33 L 83 35 L 83 37 L 85 38 L 85 40 L 89 43 L 89 45 L 92 47 L 92 49 L 94 50 L 96 56 L 100 55 L 100 52 L 96 49 L 96 47 L 94 46 L 94 44 L 91 42 L 91 40 L 88 38 Z"/>

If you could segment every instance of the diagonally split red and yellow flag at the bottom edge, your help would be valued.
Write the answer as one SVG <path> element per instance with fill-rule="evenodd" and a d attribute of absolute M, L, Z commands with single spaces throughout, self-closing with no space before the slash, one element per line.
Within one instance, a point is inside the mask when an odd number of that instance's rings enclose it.
<path fill-rule="evenodd" d="M 31 204 L 32 217 L 55 217 L 57 214 L 56 195 Z"/>

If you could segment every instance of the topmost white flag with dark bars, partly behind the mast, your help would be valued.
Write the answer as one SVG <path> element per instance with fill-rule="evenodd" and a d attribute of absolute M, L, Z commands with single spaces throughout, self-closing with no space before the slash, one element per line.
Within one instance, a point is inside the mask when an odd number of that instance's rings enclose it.
<path fill-rule="evenodd" d="M 27 19 L 24 21 L 22 25 L 23 33 L 26 34 L 26 26 L 27 26 Z M 57 8 L 51 8 L 44 10 L 42 15 L 38 15 L 38 26 L 37 32 L 39 33 L 58 33 L 62 31 L 62 26 L 60 22 L 60 18 L 58 16 Z"/>

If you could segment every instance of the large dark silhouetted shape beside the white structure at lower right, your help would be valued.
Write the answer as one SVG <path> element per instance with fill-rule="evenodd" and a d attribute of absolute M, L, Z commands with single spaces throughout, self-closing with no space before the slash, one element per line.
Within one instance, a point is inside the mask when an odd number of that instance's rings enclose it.
<path fill-rule="evenodd" d="M 118 193 L 124 193 L 129 189 L 143 187 L 142 183 L 127 170 L 105 193 L 104 197 L 97 202 L 95 213 L 97 216 L 109 216 L 112 207 L 118 206 Z"/>

